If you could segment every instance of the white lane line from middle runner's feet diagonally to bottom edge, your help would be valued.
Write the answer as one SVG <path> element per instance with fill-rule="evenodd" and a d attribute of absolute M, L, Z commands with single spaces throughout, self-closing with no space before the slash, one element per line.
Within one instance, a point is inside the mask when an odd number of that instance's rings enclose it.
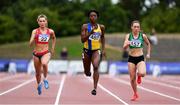
<path fill-rule="evenodd" d="M 91 82 L 93 82 L 92 79 L 89 78 L 89 80 Z M 107 92 L 108 94 L 110 94 L 111 96 L 113 96 L 114 98 L 116 98 L 118 101 L 122 102 L 124 105 L 129 105 L 128 103 L 126 103 L 125 101 L 123 101 L 121 98 L 119 98 L 118 96 L 116 96 L 114 93 L 112 93 L 110 90 L 106 89 L 104 86 L 102 86 L 101 84 L 98 83 L 98 86 L 105 92 Z"/>

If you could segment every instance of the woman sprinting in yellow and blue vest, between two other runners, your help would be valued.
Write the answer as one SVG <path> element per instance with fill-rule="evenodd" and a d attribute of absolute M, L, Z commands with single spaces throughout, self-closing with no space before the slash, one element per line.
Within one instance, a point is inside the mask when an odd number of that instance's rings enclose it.
<path fill-rule="evenodd" d="M 82 60 L 84 65 L 84 73 L 86 76 L 91 76 L 91 63 L 93 65 L 94 89 L 91 91 L 91 94 L 96 95 L 96 89 L 99 80 L 98 68 L 101 55 L 103 57 L 105 56 L 105 26 L 96 23 L 97 18 L 99 17 L 98 11 L 90 10 L 88 12 L 88 17 L 90 22 L 83 24 L 81 29 L 81 41 L 84 44 Z"/>

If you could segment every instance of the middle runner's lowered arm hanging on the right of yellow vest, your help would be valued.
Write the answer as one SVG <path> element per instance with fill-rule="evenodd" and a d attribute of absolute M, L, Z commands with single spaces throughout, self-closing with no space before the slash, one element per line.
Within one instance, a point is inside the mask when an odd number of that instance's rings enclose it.
<path fill-rule="evenodd" d="M 105 57 L 106 56 L 106 53 L 105 53 L 105 26 L 100 25 L 100 27 L 101 27 L 101 31 L 102 31 L 102 35 L 101 35 L 102 54 Z"/>

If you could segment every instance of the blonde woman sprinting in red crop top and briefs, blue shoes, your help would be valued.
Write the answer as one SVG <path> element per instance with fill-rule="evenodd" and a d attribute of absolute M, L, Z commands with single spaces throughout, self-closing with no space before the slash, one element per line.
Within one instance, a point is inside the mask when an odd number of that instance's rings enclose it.
<path fill-rule="evenodd" d="M 42 83 L 41 83 L 41 73 L 44 75 L 44 87 L 49 88 L 47 81 L 48 73 L 48 62 L 51 58 L 51 55 L 54 53 L 56 36 L 52 29 L 47 27 L 48 21 L 47 17 L 43 14 L 39 15 L 37 18 L 39 28 L 36 28 L 32 31 L 31 39 L 29 45 L 32 46 L 35 44 L 33 51 L 33 60 L 34 67 L 36 70 L 36 81 L 38 84 L 37 90 L 38 94 L 42 93 Z M 52 48 L 49 50 L 49 39 L 52 38 Z M 43 70 L 43 71 L 42 71 Z"/>

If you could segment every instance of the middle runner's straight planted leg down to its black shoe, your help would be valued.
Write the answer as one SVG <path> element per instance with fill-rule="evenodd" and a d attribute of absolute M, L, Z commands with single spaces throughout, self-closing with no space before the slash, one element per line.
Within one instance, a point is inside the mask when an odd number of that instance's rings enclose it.
<path fill-rule="evenodd" d="M 94 70 L 94 74 L 93 74 L 93 80 L 94 80 L 94 92 L 92 91 L 93 95 L 96 95 L 96 89 L 97 89 L 97 84 L 98 84 L 98 80 L 99 80 L 99 64 L 100 64 L 100 50 L 97 50 L 95 52 L 93 52 L 92 55 L 92 65 L 93 65 L 93 70 Z"/>

